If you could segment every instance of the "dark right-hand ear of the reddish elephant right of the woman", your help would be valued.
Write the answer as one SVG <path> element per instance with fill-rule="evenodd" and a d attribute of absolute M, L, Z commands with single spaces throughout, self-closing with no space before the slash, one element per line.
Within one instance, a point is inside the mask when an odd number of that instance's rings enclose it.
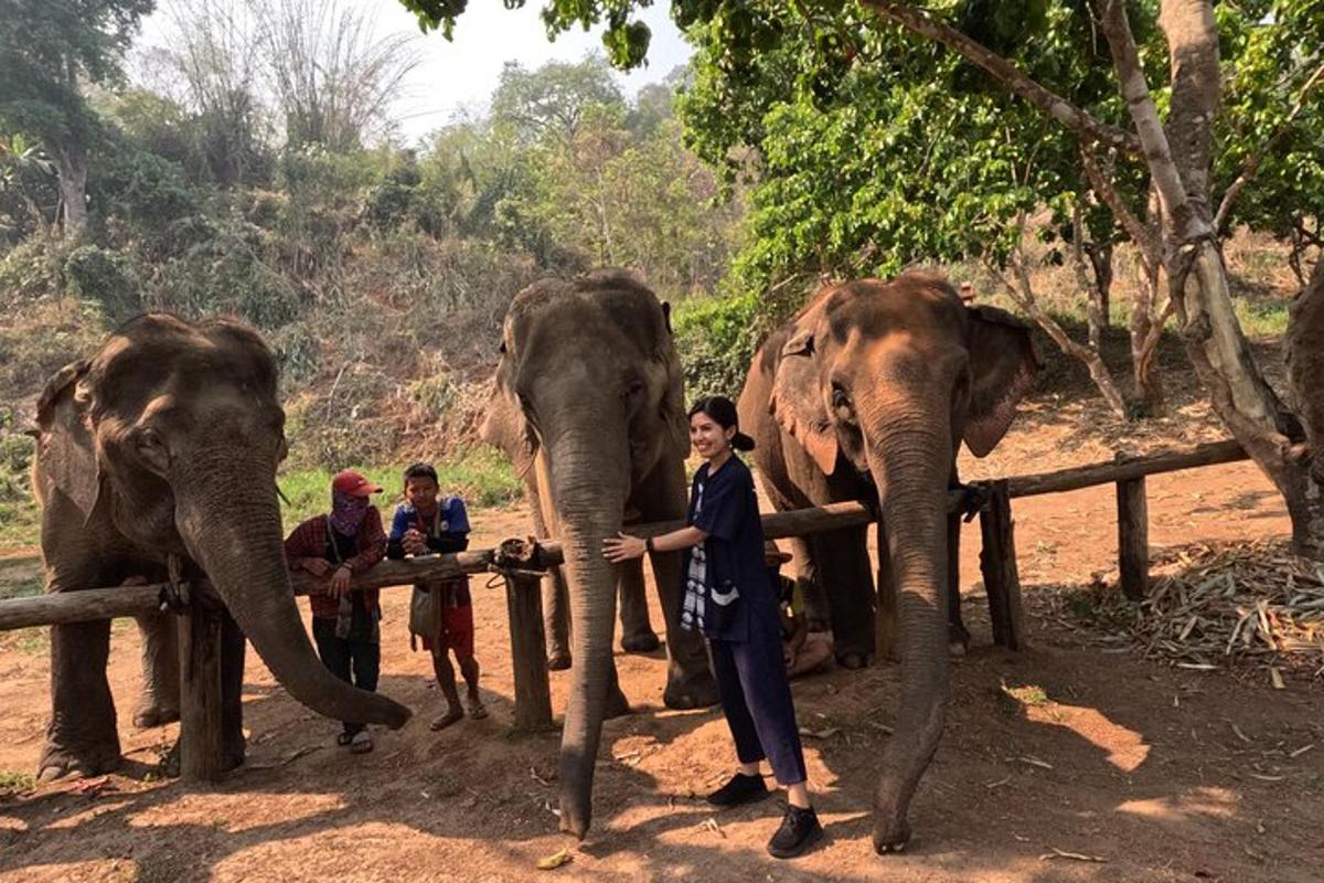
<path fill-rule="evenodd" d="M 997 307 L 968 310 L 972 383 L 963 437 L 972 454 L 985 457 L 1006 434 L 1043 363 L 1023 322 Z"/>

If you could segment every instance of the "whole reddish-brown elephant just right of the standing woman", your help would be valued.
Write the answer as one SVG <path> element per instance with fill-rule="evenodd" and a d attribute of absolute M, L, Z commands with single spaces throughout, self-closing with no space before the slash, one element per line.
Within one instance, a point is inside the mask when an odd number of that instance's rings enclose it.
<path fill-rule="evenodd" d="M 963 306 L 929 273 L 825 287 L 749 367 L 740 424 L 755 438 L 773 506 L 866 500 L 882 518 L 878 631 L 899 639 L 903 687 L 874 800 L 879 853 L 908 841 L 910 800 L 943 732 L 959 524 L 947 500 L 957 446 L 964 440 L 986 455 L 1039 369 L 1025 324 L 993 307 Z M 806 606 L 826 594 L 839 658 L 857 666 L 875 638 L 865 540 L 859 528 L 793 544 L 817 590 Z"/>

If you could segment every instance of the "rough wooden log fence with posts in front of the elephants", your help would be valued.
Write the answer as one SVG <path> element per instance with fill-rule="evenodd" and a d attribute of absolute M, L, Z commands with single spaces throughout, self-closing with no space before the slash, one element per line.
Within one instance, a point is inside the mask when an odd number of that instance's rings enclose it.
<path fill-rule="evenodd" d="M 982 540 L 980 571 L 988 593 L 994 642 L 1012 650 L 1025 645 L 1012 519 L 1014 498 L 1116 485 L 1120 584 L 1127 597 L 1139 600 L 1145 594 L 1149 569 L 1145 477 L 1241 459 L 1247 459 L 1241 445 L 1222 441 L 1166 449 L 1143 457 L 1119 454 L 1110 463 L 973 485 L 980 494 L 976 499 Z M 969 506 L 968 491 L 949 492 L 949 512 L 964 511 Z M 834 503 L 768 514 L 763 516 L 763 527 L 768 539 L 780 539 L 859 527 L 876 520 L 878 514 L 871 506 Z M 655 536 L 677 527 L 681 527 L 681 522 L 630 530 L 639 536 Z M 404 588 L 459 575 L 502 575 L 515 674 L 515 727 L 536 731 L 553 725 L 539 581 L 548 567 L 560 563 L 561 548 L 555 540 L 507 540 L 491 549 L 383 561 L 367 573 L 355 576 L 352 588 Z M 308 594 L 319 590 L 324 580 L 297 573 L 293 575 L 293 585 L 295 594 Z M 130 585 L 0 601 L 0 631 L 151 614 L 163 609 L 163 601 L 172 592 L 177 596 L 176 606 L 180 612 L 180 772 L 185 778 L 216 781 L 222 777 L 221 620 L 220 598 L 205 581 L 184 586 L 183 592 L 171 584 Z"/>

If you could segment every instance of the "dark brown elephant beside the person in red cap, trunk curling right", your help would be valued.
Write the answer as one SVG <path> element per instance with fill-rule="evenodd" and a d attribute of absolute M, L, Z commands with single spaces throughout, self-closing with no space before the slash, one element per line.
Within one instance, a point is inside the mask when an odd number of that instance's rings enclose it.
<path fill-rule="evenodd" d="M 32 483 L 48 592 L 164 581 L 173 560 L 225 605 L 225 763 L 244 760 L 245 635 L 298 702 L 335 720 L 404 725 L 409 710 L 332 676 L 312 651 L 285 564 L 275 469 L 287 453 L 275 357 L 230 319 L 146 314 L 61 368 L 37 401 Z M 144 650 L 148 680 L 175 670 L 168 622 Z M 118 767 L 106 679 L 110 622 L 52 626 L 52 715 L 42 780 Z M 163 666 L 163 667 L 158 667 Z"/>

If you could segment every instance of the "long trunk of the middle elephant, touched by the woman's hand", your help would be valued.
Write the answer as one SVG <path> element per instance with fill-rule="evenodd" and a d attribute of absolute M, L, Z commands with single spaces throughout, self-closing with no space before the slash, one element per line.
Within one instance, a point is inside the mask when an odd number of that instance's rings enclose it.
<path fill-rule="evenodd" d="M 612 630 L 616 621 L 616 567 L 602 557 L 602 540 L 621 527 L 628 475 L 613 475 L 604 450 L 613 433 L 594 426 L 593 438 L 576 433 L 548 446 L 552 500 L 571 586 L 573 684 L 561 731 L 561 830 L 583 838 L 593 814 L 593 765 L 602 735 L 612 678 Z M 620 447 L 625 449 L 624 430 Z"/>

